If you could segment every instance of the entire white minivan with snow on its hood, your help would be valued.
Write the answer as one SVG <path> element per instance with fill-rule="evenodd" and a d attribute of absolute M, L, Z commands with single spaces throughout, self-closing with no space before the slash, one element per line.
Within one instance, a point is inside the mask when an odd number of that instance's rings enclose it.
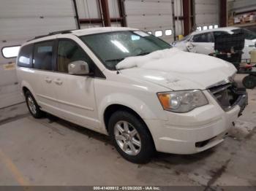
<path fill-rule="evenodd" d="M 132 28 L 39 36 L 22 45 L 17 65 L 34 117 L 48 112 L 109 135 L 133 163 L 214 147 L 247 104 L 232 64 Z"/>

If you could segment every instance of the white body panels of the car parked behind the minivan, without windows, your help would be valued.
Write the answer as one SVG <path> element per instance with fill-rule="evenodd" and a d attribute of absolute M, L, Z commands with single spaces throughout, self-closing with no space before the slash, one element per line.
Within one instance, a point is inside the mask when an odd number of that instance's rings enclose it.
<path fill-rule="evenodd" d="M 214 28 L 205 31 L 195 31 L 189 34 L 187 39 L 177 41 L 173 43 L 174 47 L 178 47 L 180 50 L 187 52 L 195 52 L 204 55 L 208 55 L 214 52 L 214 32 L 224 32 L 226 34 L 233 34 L 233 30 L 239 29 L 237 27 L 225 27 L 225 28 Z M 196 35 L 212 34 L 212 42 L 193 42 L 193 38 Z M 250 51 L 255 50 L 256 39 L 245 39 L 244 40 L 244 53 L 242 54 L 242 60 L 250 60 Z"/>

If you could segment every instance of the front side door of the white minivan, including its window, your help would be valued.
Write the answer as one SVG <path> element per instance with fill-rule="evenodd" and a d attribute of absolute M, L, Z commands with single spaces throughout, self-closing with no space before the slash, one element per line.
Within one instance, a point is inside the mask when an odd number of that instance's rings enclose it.
<path fill-rule="evenodd" d="M 59 39 L 57 72 L 53 79 L 59 114 L 86 128 L 99 128 L 94 77 L 68 74 L 68 64 L 74 61 L 86 61 L 92 69 L 91 59 L 76 42 L 71 39 Z"/>

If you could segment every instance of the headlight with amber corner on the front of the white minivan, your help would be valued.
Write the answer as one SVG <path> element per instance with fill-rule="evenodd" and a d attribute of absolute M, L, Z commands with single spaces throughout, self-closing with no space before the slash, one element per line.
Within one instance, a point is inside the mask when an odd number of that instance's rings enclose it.
<path fill-rule="evenodd" d="M 162 107 L 170 112 L 185 113 L 208 104 L 206 95 L 201 90 L 157 93 L 157 96 Z"/>

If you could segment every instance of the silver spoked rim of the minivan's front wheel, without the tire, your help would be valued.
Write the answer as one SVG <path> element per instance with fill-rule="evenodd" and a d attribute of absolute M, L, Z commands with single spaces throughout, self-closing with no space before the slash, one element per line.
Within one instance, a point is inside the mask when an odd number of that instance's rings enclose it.
<path fill-rule="evenodd" d="M 119 121 L 114 127 L 115 139 L 118 147 L 128 155 L 138 155 L 141 149 L 141 140 L 138 131 L 132 124 Z"/>

